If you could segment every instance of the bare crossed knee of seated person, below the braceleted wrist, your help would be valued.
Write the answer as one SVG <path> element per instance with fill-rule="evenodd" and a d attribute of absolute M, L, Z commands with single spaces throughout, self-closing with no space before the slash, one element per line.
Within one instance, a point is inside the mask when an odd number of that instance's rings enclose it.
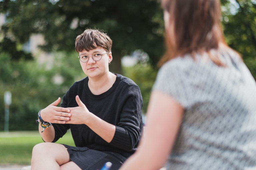
<path fill-rule="evenodd" d="M 39 143 L 34 146 L 31 159 L 31 170 L 59 170 L 60 165 L 70 161 L 67 148 L 58 143 Z"/>

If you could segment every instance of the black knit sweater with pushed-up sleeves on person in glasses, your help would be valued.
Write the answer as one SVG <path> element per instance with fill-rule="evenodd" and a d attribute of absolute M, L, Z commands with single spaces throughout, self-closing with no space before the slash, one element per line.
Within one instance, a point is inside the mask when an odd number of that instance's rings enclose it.
<path fill-rule="evenodd" d="M 117 152 L 124 157 L 136 150 L 142 134 L 142 96 L 139 87 L 129 78 L 117 74 L 113 86 L 100 95 L 91 93 L 88 77 L 75 82 L 63 96 L 61 107 L 77 107 L 78 95 L 87 109 L 102 120 L 115 125 L 116 131 L 110 143 L 106 142 L 88 126 L 53 124 L 55 138 L 62 137 L 70 128 L 75 145 L 99 151 Z"/>

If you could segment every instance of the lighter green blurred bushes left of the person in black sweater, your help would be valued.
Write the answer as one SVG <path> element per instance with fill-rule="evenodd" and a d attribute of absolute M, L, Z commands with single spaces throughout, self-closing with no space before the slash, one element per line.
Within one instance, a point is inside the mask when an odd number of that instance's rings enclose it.
<path fill-rule="evenodd" d="M 37 60 L 12 60 L 0 53 L 0 130 L 4 129 L 3 94 L 11 91 L 10 130 L 36 130 L 37 112 L 66 93 L 76 80 L 85 75 L 75 52 L 54 53 L 54 65 L 46 70 Z M 62 81 L 56 82 L 56 76 Z"/>

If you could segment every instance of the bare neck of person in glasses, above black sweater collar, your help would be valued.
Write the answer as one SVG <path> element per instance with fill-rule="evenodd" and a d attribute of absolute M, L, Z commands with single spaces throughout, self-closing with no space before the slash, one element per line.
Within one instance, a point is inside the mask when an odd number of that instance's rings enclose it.
<path fill-rule="evenodd" d="M 88 86 L 92 94 L 99 95 L 109 90 L 116 80 L 116 75 L 106 72 L 101 77 L 89 77 Z"/>

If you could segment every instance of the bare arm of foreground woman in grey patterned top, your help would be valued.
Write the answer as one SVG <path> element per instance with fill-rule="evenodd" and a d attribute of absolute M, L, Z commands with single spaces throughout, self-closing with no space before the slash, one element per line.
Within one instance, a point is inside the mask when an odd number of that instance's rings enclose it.
<path fill-rule="evenodd" d="M 179 103 L 169 95 L 153 91 L 148 105 L 147 134 L 120 170 L 160 169 L 171 152 L 182 117 Z"/>

